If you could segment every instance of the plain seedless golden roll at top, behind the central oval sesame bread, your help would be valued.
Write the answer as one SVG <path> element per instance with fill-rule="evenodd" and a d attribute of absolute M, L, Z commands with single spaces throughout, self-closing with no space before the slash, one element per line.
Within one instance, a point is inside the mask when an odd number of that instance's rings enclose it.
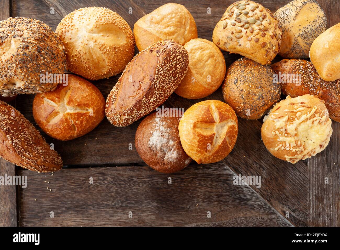
<path fill-rule="evenodd" d="M 164 4 L 140 18 L 135 22 L 133 34 L 139 51 L 166 39 L 184 45 L 198 37 L 195 20 L 186 7 L 177 3 Z"/>

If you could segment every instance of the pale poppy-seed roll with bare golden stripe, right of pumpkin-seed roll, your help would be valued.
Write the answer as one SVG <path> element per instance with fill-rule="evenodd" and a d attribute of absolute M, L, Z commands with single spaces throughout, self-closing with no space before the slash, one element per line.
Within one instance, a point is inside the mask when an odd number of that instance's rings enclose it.
<path fill-rule="evenodd" d="M 282 28 L 279 55 L 304 59 L 315 38 L 327 29 L 327 17 L 316 0 L 294 0 L 278 9 L 274 16 Z"/>

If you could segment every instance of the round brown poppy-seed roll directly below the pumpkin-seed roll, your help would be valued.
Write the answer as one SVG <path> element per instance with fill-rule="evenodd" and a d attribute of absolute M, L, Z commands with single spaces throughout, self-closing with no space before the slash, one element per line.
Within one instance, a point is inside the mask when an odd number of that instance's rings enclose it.
<path fill-rule="evenodd" d="M 242 57 L 234 62 L 222 84 L 224 101 L 244 119 L 261 118 L 280 100 L 280 84 L 273 82 L 274 71 Z"/>

